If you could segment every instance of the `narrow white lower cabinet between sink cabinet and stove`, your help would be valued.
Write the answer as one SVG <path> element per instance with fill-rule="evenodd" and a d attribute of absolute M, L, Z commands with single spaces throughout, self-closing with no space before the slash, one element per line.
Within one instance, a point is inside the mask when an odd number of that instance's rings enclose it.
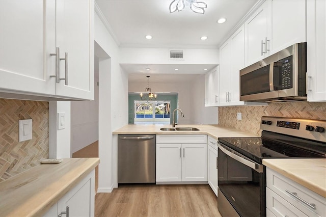
<path fill-rule="evenodd" d="M 207 152 L 207 179 L 208 184 L 212 188 L 216 196 L 218 196 L 218 147 L 217 141 L 208 137 Z"/>

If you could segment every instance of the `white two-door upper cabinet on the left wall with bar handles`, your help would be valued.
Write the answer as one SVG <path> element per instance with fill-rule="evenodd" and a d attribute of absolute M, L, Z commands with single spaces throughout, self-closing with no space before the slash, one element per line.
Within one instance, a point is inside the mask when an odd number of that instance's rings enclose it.
<path fill-rule="evenodd" d="M 94 99 L 93 0 L 0 1 L 0 32 L 1 92 Z"/>

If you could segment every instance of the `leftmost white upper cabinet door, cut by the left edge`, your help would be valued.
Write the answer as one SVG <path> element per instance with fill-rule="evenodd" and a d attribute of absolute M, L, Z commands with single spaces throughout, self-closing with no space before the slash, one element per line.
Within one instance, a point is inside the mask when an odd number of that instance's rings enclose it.
<path fill-rule="evenodd" d="M 55 94 L 54 62 L 45 35 L 55 31 L 55 2 L 0 1 L 0 88 Z M 53 38 L 54 39 L 54 38 Z M 54 51 L 54 50 L 53 50 Z"/>

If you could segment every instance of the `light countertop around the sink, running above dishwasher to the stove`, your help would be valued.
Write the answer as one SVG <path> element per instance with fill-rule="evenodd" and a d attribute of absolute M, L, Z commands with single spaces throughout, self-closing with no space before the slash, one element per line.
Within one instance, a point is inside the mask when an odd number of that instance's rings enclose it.
<path fill-rule="evenodd" d="M 245 132 L 237 129 L 223 127 L 219 125 L 201 125 L 201 124 L 178 124 L 176 127 L 196 127 L 200 130 L 194 131 L 164 131 L 160 128 L 169 127 L 171 124 L 128 124 L 117 129 L 113 134 L 207 134 L 210 137 L 218 139 L 220 137 L 260 137 L 260 135 Z"/>

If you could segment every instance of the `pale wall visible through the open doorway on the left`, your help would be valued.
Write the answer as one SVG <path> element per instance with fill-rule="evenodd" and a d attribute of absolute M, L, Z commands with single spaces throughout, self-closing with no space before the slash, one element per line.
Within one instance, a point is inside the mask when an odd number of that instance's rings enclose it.
<path fill-rule="evenodd" d="M 94 64 L 98 65 L 98 58 Z M 95 67 L 94 100 L 71 101 L 71 154 L 98 140 L 98 67 Z"/>

